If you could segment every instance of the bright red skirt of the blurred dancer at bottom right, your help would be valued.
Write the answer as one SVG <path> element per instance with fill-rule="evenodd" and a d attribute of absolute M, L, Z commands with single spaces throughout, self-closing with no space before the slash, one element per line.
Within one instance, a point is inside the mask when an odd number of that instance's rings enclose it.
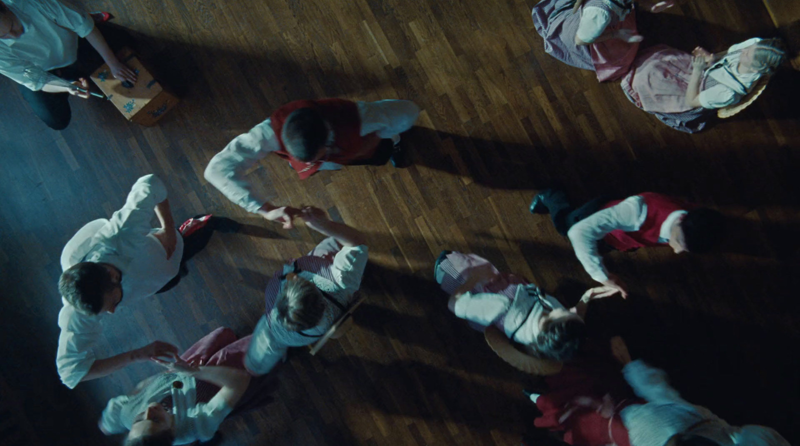
<path fill-rule="evenodd" d="M 625 382 L 618 364 L 610 360 L 565 364 L 561 372 L 547 376 L 546 382 L 550 392 L 536 400 L 536 406 L 542 412 L 542 416 L 534 420 L 536 427 L 562 431 L 564 441 L 576 446 L 630 446 L 628 430 L 622 424 L 619 411 L 641 400 L 634 396 Z M 614 407 L 611 418 L 603 416 L 594 407 L 575 404 L 578 398 L 599 404 L 604 396 L 610 398 Z"/>

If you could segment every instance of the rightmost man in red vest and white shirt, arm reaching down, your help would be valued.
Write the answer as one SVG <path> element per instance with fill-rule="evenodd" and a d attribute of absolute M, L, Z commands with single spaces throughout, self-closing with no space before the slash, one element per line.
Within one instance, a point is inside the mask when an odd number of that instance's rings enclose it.
<path fill-rule="evenodd" d="M 531 213 L 550 213 L 558 233 L 570 238 L 586 273 L 627 297 L 626 285 L 602 263 L 598 242 L 632 251 L 669 246 L 676 254 L 703 253 L 722 239 L 724 221 L 713 209 L 698 208 L 660 193 L 644 192 L 625 200 L 599 197 L 575 209 L 560 190 L 546 189 L 530 203 Z"/>

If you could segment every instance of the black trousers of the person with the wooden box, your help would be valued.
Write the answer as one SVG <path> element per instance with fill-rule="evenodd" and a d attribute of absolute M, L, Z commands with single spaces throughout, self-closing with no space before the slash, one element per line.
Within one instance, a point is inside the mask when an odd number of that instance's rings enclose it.
<path fill-rule="evenodd" d="M 130 36 L 119 26 L 102 23 L 98 29 L 106 38 L 110 48 L 117 51 L 130 43 Z M 89 78 L 103 64 L 103 60 L 85 38 L 78 39 L 78 59 L 70 66 L 50 70 L 54 74 L 69 82 L 79 78 Z M 63 130 L 70 125 L 72 110 L 70 110 L 69 93 L 47 93 L 42 90 L 34 91 L 19 85 L 22 98 L 30 104 L 34 114 L 41 119 L 50 129 Z"/>

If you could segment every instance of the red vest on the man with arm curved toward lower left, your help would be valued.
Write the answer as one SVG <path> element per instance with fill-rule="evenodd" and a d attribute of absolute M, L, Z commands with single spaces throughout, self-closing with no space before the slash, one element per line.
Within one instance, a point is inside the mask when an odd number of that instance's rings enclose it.
<path fill-rule="evenodd" d="M 302 108 L 312 108 L 322 114 L 322 118 L 327 121 L 334 130 L 334 145 L 338 147 L 338 153 L 331 153 L 322 160 L 314 162 L 300 161 L 292 157 L 283 145 L 281 130 L 286 117 L 294 111 Z M 358 116 L 358 108 L 355 102 L 344 99 L 320 99 L 318 101 L 294 101 L 282 106 L 270 116 L 270 125 L 278 137 L 281 149 L 275 153 L 285 160 L 288 160 L 294 170 L 297 171 L 301 180 L 305 180 L 316 173 L 322 162 L 333 161 L 338 164 L 348 164 L 356 159 L 369 158 L 373 153 L 361 153 L 361 117 Z M 373 151 L 374 152 L 374 151 Z"/>

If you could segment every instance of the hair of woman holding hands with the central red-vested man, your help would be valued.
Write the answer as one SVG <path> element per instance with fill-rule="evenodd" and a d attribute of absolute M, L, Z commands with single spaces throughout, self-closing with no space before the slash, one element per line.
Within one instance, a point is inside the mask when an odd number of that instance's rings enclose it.
<path fill-rule="evenodd" d="M 314 328 L 322 321 L 325 301 L 314 283 L 298 276 L 284 283 L 275 308 L 278 321 L 287 330 L 300 332 Z"/>

